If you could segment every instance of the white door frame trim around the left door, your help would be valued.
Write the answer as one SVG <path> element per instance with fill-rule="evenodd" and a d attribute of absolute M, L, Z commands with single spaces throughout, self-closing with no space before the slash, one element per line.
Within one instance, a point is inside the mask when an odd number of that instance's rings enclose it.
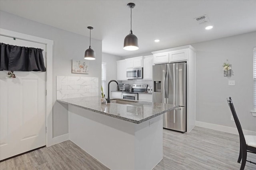
<path fill-rule="evenodd" d="M 44 39 L 41 37 L 35 37 L 15 31 L 0 28 L 0 35 L 8 36 L 12 38 L 22 39 L 26 41 L 33 41 L 36 43 L 42 43 L 46 45 L 46 146 L 54 145 L 54 139 L 52 137 L 52 51 L 53 40 Z"/>

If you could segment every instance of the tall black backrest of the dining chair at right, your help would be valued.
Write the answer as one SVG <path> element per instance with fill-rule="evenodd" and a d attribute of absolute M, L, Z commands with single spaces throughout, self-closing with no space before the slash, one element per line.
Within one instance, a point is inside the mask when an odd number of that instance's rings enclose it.
<path fill-rule="evenodd" d="M 236 115 L 236 110 L 234 108 L 234 105 L 233 105 L 231 97 L 227 98 L 227 101 L 228 101 L 228 105 L 230 107 L 231 113 L 232 113 L 232 115 L 234 117 L 234 121 L 236 123 L 236 127 L 237 127 L 237 130 L 238 130 L 238 133 L 239 133 L 239 137 L 240 137 L 240 143 L 241 143 L 241 145 L 246 146 L 246 142 L 245 142 L 245 139 L 244 139 L 244 133 L 243 133 L 241 124 L 240 124 L 240 122 L 238 120 L 238 117 Z"/>

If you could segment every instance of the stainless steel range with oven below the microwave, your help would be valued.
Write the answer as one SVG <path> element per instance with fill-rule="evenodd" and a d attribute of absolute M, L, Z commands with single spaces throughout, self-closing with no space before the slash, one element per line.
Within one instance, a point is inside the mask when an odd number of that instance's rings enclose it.
<path fill-rule="evenodd" d="M 132 90 L 123 92 L 123 99 L 138 100 L 138 93 L 147 91 L 147 84 L 132 84 Z"/>

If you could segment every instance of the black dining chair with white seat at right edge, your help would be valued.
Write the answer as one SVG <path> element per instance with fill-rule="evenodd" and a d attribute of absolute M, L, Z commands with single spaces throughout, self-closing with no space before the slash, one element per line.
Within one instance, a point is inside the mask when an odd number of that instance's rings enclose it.
<path fill-rule="evenodd" d="M 227 101 L 228 101 L 228 105 L 230 107 L 230 110 L 232 112 L 232 115 L 234 117 L 234 121 L 236 123 L 236 127 L 237 127 L 237 130 L 238 130 L 238 133 L 239 133 L 239 138 L 240 138 L 240 152 L 239 152 L 237 162 L 240 163 L 241 159 L 242 159 L 240 170 L 244 170 L 244 166 L 245 166 L 246 161 L 250 162 L 252 164 L 256 164 L 255 162 L 246 160 L 247 152 L 251 152 L 251 153 L 256 154 L 256 136 L 244 135 L 242 127 L 241 127 L 240 122 L 238 120 L 238 117 L 236 115 L 236 111 L 235 111 L 235 108 L 234 108 L 231 97 L 227 98 Z"/>

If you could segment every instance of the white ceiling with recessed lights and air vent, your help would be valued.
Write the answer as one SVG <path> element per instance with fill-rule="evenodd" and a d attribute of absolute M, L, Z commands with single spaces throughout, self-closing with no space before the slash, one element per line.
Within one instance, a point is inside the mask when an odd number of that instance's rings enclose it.
<path fill-rule="evenodd" d="M 129 2 L 136 4 L 132 9 L 132 31 L 139 40 L 136 51 L 123 49 L 130 31 Z M 87 26 L 92 26 L 92 38 L 102 40 L 102 52 L 121 57 L 256 31 L 255 9 L 256 0 L 0 1 L 2 11 L 88 37 Z M 205 14 L 214 25 L 211 30 L 194 20 Z"/>

